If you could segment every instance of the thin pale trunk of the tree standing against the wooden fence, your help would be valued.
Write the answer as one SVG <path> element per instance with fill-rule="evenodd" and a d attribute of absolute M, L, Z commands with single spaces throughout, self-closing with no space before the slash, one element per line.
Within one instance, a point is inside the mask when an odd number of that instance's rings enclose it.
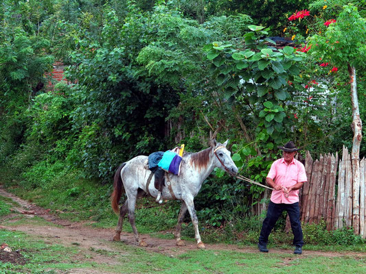
<path fill-rule="evenodd" d="M 351 99 L 352 99 L 352 130 L 354 132 L 352 143 L 352 226 L 355 234 L 360 233 L 360 146 L 362 140 L 362 121 L 358 108 L 356 69 L 348 64 L 350 73 Z"/>

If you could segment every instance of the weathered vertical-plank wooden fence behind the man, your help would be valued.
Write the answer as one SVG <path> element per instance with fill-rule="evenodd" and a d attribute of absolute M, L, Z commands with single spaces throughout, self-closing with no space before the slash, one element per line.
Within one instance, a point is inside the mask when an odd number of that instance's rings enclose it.
<path fill-rule="evenodd" d="M 342 159 L 336 155 L 320 155 L 312 160 L 309 151 L 305 159 L 308 182 L 299 192 L 300 218 L 304 223 L 319 223 L 323 219 L 328 230 L 354 227 L 354 232 L 366 238 L 366 160 L 360 161 L 360 185 L 352 185 L 352 164 L 348 150 L 343 147 Z M 271 197 L 265 191 L 263 197 Z M 253 207 L 257 214 L 265 210 Z M 289 222 L 288 225 L 289 229 Z"/>

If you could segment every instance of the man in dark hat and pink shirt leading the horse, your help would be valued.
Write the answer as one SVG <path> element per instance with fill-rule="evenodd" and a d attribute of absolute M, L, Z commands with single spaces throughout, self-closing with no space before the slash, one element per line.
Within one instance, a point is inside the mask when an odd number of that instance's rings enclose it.
<path fill-rule="evenodd" d="M 267 216 L 263 221 L 258 249 L 268 252 L 267 242 L 271 230 L 275 226 L 279 216 L 286 210 L 290 217 L 291 229 L 293 229 L 295 254 L 302 253 L 304 245 L 299 210 L 299 189 L 307 181 L 304 164 L 296 160 L 297 149 L 293 141 L 287 142 L 284 147 L 278 147 L 284 151 L 283 158 L 273 162 L 266 177 L 266 182 L 273 188 L 271 201 L 268 205 Z"/>

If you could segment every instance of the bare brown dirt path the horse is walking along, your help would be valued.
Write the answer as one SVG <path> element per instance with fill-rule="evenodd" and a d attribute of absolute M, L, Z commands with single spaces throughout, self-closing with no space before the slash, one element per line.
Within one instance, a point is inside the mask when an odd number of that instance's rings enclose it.
<path fill-rule="evenodd" d="M 81 249 L 84 249 L 84 254 L 92 253 L 93 250 L 102 251 L 115 251 L 121 252 L 117 246 L 110 245 L 110 242 L 115 234 L 114 229 L 106 228 L 94 228 L 86 226 L 82 222 L 71 222 L 60 219 L 57 215 L 51 214 L 49 210 L 36 206 L 34 203 L 24 201 L 9 192 L 6 192 L 0 186 L 0 196 L 8 197 L 19 203 L 21 208 L 13 207 L 12 210 L 20 212 L 25 216 L 32 218 L 33 216 L 39 216 L 46 221 L 53 223 L 54 225 L 27 225 L 22 223 L 21 225 L 4 226 L 0 225 L 1 229 L 9 229 L 15 231 L 25 232 L 36 236 L 42 236 L 49 244 L 62 244 L 65 246 L 77 245 Z M 16 219 L 15 219 L 16 220 Z M 1 221 L 1 220 L 0 220 Z M 126 224 L 127 225 L 127 224 Z M 167 232 L 169 233 L 169 232 Z M 194 242 L 186 242 L 185 247 L 177 247 L 174 239 L 161 239 L 148 236 L 146 234 L 140 235 L 148 244 L 147 247 L 141 247 L 146 251 L 163 253 L 165 255 L 175 257 L 181 253 L 185 253 L 190 250 L 196 250 L 196 244 Z M 135 240 L 133 234 L 122 232 L 121 241 L 126 245 L 135 246 Z M 227 250 L 237 251 L 241 253 L 258 253 L 258 249 L 253 247 L 238 247 L 236 245 L 225 244 L 205 244 L 206 249 L 212 250 Z M 290 249 L 271 249 L 271 253 L 290 254 L 293 250 Z M 6 254 L 5 254 L 6 253 Z M 90 260 L 96 263 L 115 264 L 114 258 L 111 256 L 103 256 L 102 254 L 92 253 Z M 356 252 L 328 252 L 328 251 L 303 251 L 302 257 L 307 256 L 326 256 L 326 257 L 341 257 L 341 256 L 353 256 L 358 258 L 365 258 L 365 253 Z M 16 264 L 24 264 L 25 260 L 21 256 L 21 251 L 12 251 L 10 253 L 0 250 L 0 260 L 3 262 L 14 262 Z M 286 262 L 284 262 L 286 263 Z M 79 273 L 79 272 L 77 272 Z"/>

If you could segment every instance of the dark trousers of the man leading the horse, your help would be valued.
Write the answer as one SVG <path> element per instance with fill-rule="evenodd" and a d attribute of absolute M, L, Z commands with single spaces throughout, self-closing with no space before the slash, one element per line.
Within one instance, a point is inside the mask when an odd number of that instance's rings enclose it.
<path fill-rule="evenodd" d="M 281 216 L 282 212 L 286 210 L 288 216 L 290 217 L 291 229 L 293 229 L 294 240 L 293 245 L 297 247 L 302 247 L 304 241 L 302 238 L 302 229 L 300 223 L 300 209 L 299 203 L 273 203 L 269 201 L 267 216 L 263 221 L 262 229 L 260 231 L 260 245 L 267 245 L 268 236 L 271 234 L 273 227 Z"/>

